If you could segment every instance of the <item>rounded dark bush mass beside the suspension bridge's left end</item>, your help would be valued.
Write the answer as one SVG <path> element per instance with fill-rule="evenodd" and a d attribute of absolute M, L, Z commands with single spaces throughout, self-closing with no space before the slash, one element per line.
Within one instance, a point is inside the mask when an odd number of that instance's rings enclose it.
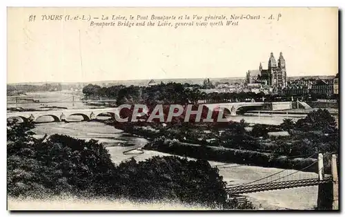
<path fill-rule="evenodd" d="M 211 207 L 226 203 L 225 182 L 206 161 L 156 156 L 142 162 L 123 162 L 117 171 L 128 198 L 178 199 Z"/>

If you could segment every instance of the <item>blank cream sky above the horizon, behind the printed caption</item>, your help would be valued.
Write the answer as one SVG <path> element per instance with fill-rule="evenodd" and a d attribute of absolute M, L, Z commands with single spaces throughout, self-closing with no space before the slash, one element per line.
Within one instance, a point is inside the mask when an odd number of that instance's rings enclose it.
<path fill-rule="evenodd" d="M 273 15 L 279 21 L 268 20 Z M 95 27 L 41 15 L 260 15 L 238 26 Z M 30 22 L 30 15 L 36 21 Z M 8 83 L 244 77 L 282 52 L 288 76 L 338 71 L 337 8 L 9 8 Z"/>

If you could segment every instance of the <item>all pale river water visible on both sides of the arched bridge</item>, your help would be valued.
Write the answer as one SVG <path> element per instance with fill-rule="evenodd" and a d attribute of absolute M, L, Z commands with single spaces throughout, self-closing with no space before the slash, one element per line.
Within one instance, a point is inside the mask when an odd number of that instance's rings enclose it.
<path fill-rule="evenodd" d="M 17 104 L 23 108 L 39 108 L 41 106 L 63 106 L 68 109 L 86 109 L 82 102 L 70 102 L 73 99 L 79 101 L 81 93 L 70 92 L 43 92 L 43 93 L 28 93 L 21 98 L 40 100 L 39 104 Z M 15 97 L 8 97 L 8 107 L 15 106 Z M 23 100 L 19 100 L 23 102 Z M 45 103 L 49 102 L 49 103 Z M 92 106 L 95 107 L 95 106 Z M 293 120 L 298 120 L 301 117 L 277 116 L 277 115 L 237 115 L 228 117 L 229 120 L 239 122 L 244 119 L 248 123 L 260 124 L 280 124 L 283 119 L 289 117 Z M 41 120 L 43 121 L 43 120 Z M 119 129 L 103 124 L 101 122 L 50 122 L 36 124 L 34 132 L 41 137 L 44 134 L 52 135 L 54 133 L 70 135 L 74 138 L 83 140 L 95 139 L 102 142 L 110 153 L 110 157 L 115 164 L 119 164 L 123 160 L 134 157 L 136 160 L 145 160 L 154 155 L 169 155 L 158 151 L 144 151 L 144 153 L 124 154 L 123 151 L 135 147 L 141 147 L 148 142 L 144 138 L 127 135 Z M 210 164 L 224 164 L 223 162 L 210 161 Z M 219 168 L 219 173 L 223 176 L 226 182 L 232 183 L 247 183 L 259 178 L 264 178 L 270 174 L 282 171 L 282 169 L 253 167 L 253 166 L 237 166 L 237 164 L 229 164 L 229 167 Z M 317 205 L 317 187 L 302 187 L 296 189 L 284 189 L 279 191 L 264 191 L 253 194 L 246 194 L 248 198 L 259 207 L 262 205 L 264 209 L 313 209 Z"/>

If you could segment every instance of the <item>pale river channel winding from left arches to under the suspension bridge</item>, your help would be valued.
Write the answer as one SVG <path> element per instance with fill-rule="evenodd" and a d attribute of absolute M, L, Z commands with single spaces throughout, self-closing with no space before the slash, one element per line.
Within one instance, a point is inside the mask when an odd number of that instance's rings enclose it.
<path fill-rule="evenodd" d="M 132 152 L 124 154 L 123 151 L 132 149 L 124 147 L 125 144 L 143 146 L 147 140 L 131 135 L 126 135 L 123 131 L 101 122 L 55 122 L 37 124 L 34 132 L 42 136 L 61 133 L 83 140 L 95 139 L 103 142 L 107 147 L 110 157 L 115 164 L 123 160 L 134 157 L 136 160 L 146 160 L 154 155 L 170 155 L 158 151 L 147 151 L 144 153 Z M 211 165 L 224 164 L 223 162 L 210 161 Z M 264 178 L 270 174 L 282 171 L 282 169 L 240 166 L 229 164 L 227 168 L 219 168 L 219 173 L 226 182 L 242 184 L 259 178 Z M 279 191 L 264 191 L 253 194 L 246 194 L 257 207 L 262 205 L 264 209 L 313 209 L 317 205 L 317 187 L 302 187 L 296 189 L 284 189 Z"/>

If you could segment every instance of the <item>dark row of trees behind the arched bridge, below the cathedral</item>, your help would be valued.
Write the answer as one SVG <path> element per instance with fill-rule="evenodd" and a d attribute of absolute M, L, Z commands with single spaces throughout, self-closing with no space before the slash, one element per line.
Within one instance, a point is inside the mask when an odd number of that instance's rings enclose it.
<path fill-rule="evenodd" d="M 205 82 L 205 81 L 204 81 Z M 207 82 L 205 84 L 208 84 Z M 117 100 L 117 104 L 124 103 L 168 103 L 168 104 L 195 104 L 199 100 L 206 102 L 237 102 L 246 100 L 273 101 L 281 100 L 279 95 L 266 95 L 264 92 L 240 92 L 240 93 L 205 93 L 202 86 L 197 84 L 179 84 L 170 82 L 168 84 L 157 84 L 155 86 L 110 86 L 101 87 L 88 84 L 83 88 L 83 94 L 90 99 L 106 97 Z M 264 98 L 264 99 L 263 99 Z M 290 100 L 290 98 L 286 98 Z"/>

